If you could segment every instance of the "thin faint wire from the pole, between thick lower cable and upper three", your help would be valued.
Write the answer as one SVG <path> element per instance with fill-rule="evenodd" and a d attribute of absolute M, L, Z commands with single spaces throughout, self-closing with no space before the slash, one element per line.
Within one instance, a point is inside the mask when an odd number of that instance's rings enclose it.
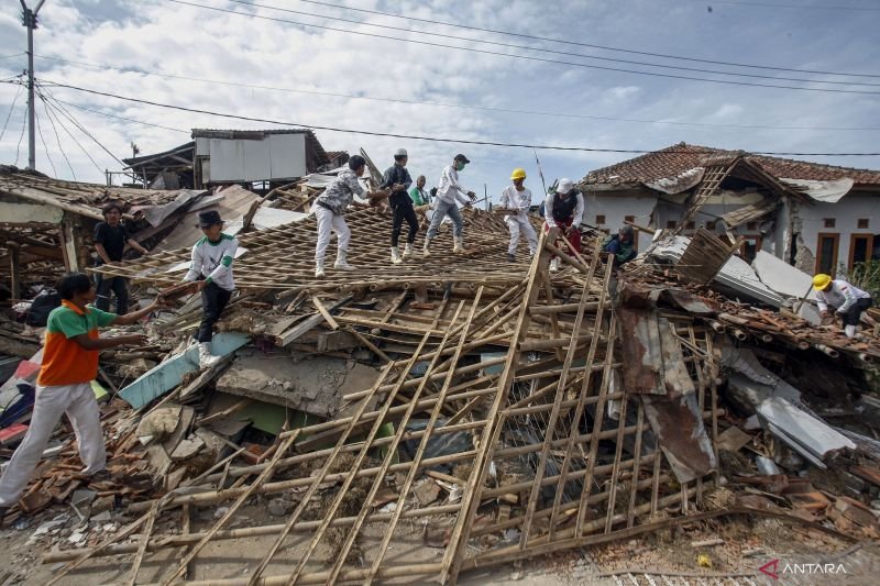
<path fill-rule="evenodd" d="M 391 102 L 391 103 L 405 103 L 410 106 L 430 106 L 430 107 L 438 107 L 438 108 L 453 108 L 453 109 L 462 109 L 462 110 L 476 110 L 476 111 L 485 111 L 485 112 L 502 112 L 502 113 L 512 113 L 512 114 L 525 114 L 525 115 L 541 115 L 541 117 L 554 117 L 554 118 L 564 118 L 564 119 L 575 119 L 575 120 L 604 120 L 609 122 L 630 122 L 630 123 L 639 123 L 639 124 L 664 124 L 664 125 L 673 125 L 673 126 L 695 126 L 695 128 L 729 128 L 729 129 L 747 129 L 747 130 L 803 130 L 803 131 L 851 131 L 851 132 L 873 132 L 879 131 L 880 126 L 770 126 L 770 125 L 761 125 L 761 124 L 714 124 L 708 122 L 678 122 L 678 121 L 668 121 L 668 120 L 646 120 L 646 119 L 634 119 L 634 118 L 615 118 L 615 117 L 601 117 L 601 115 L 590 115 L 590 114 L 575 114 L 575 113 L 568 113 L 568 112 L 548 112 L 548 111 L 540 111 L 540 110 L 518 110 L 514 108 L 495 108 L 490 106 L 471 106 L 471 104 L 462 104 L 462 103 L 449 103 L 449 102 L 432 102 L 432 101 L 419 101 L 419 100 L 405 100 L 399 98 L 376 98 L 371 96 L 355 96 L 351 93 L 339 93 L 332 91 L 319 91 L 319 90 L 305 90 L 305 89 L 297 89 L 297 88 L 288 88 L 288 87 L 278 87 L 278 86 L 264 86 L 264 85 L 256 85 L 256 84 L 245 84 L 241 81 L 226 81 L 221 79 L 206 79 L 206 78 L 198 78 L 198 77 L 188 77 L 188 76 L 180 76 L 174 74 L 157 74 L 153 71 L 146 71 L 140 69 L 138 67 L 130 67 L 130 66 L 114 66 L 106 63 L 89 63 L 89 62 L 76 62 L 70 59 L 64 59 L 62 57 L 50 57 L 47 55 L 34 55 L 34 57 L 41 59 L 47 59 L 58 63 L 64 63 L 69 65 L 74 68 L 84 69 L 84 70 L 94 70 L 99 69 L 101 71 L 106 71 L 107 69 L 122 71 L 122 73 L 134 73 L 143 76 L 148 77 L 156 77 L 156 78 L 167 78 L 167 79 L 179 79 L 189 82 L 199 82 L 199 84 L 209 84 L 209 85 L 218 85 L 218 86 L 229 86 L 229 87 L 241 87 L 248 89 L 260 89 L 266 91 L 279 91 L 279 92 L 287 92 L 287 93 L 302 93 L 308 96 L 324 96 L 324 97 L 333 97 L 333 98 L 345 98 L 352 100 L 366 100 L 366 101 L 377 101 L 377 102 Z M 92 69 L 94 68 L 94 69 Z M 74 106 L 75 108 L 81 108 L 76 104 L 68 103 L 68 106 Z M 97 113 L 97 111 L 96 111 Z M 105 114 L 105 115 L 112 115 L 112 114 Z M 121 118 L 121 120 L 129 120 Z M 165 128 L 166 130 L 177 130 L 177 129 L 167 129 L 166 126 L 161 126 L 157 124 L 150 124 L 145 122 L 140 122 L 142 124 L 148 125 L 156 125 L 157 128 Z M 182 132 L 182 131 L 178 131 Z"/>

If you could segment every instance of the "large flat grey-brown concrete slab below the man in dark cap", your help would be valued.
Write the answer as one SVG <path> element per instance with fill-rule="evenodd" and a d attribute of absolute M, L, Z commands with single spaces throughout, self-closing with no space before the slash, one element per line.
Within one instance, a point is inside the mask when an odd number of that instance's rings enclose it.
<path fill-rule="evenodd" d="M 331 417 L 343 395 L 371 388 L 378 374 L 342 358 L 244 351 L 217 380 L 217 390 Z"/>

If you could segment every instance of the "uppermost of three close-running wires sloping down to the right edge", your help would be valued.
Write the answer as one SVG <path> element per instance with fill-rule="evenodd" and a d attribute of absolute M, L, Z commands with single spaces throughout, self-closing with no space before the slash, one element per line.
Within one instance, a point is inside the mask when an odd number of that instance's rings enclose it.
<path fill-rule="evenodd" d="M 238 0 L 233 0 L 233 1 L 238 1 Z M 450 26 L 450 27 L 453 27 L 453 29 L 465 29 L 465 30 L 469 30 L 469 31 L 477 31 L 477 32 L 481 32 L 481 33 L 491 33 L 491 34 L 501 34 L 501 35 L 507 35 L 507 36 L 517 36 L 519 38 L 530 38 L 532 41 L 561 43 L 561 44 L 565 44 L 565 45 L 576 45 L 576 46 L 587 47 L 587 48 L 598 48 L 598 49 L 602 49 L 602 51 L 612 51 L 612 52 L 618 52 L 618 53 L 629 53 L 629 54 L 632 54 L 632 55 L 646 55 L 646 56 L 650 56 L 650 57 L 660 57 L 660 58 L 664 58 L 664 59 L 679 59 L 679 60 L 686 60 L 686 62 L 692 62 L 692 63 L 708 63 L 708 64 L 712 64 L 712 65 L 726 65 L 726 66 L 729 66 L 729 67 L 746 67 L 746 68 L 754 68 L 754 69 L 768 69 L 768 70 L 773 70 L 773 71 L 791 71 L 791 73 L 795 73 L 795 74 L 817 74 L 817 75 L 835 75 L 835 76 L 846 76 L 846 77 L 877 77 L 877 78 L 880 78 L 880 74 L 851 74 L 851 73 L 839 73 L 839 71 L 824 71 L 824 70 L 818 70 L 818 69 L 796 69 L 796 68 L 792 68 L 792 67 L 778 67 L 778 66 L 772 66 L 772 65 L 755 65 L 755 64 L 748 64 L 748 63 L 725 62 L 725 60 L 716 60 L 716 59 L 702 59 L 702 58 L 698 58 L 698 57 L 684 57 L 684 56 L 681 56 L 681 55 L 670 55 L 670 54 L 666 54 L 666 53 L 653 53 L 653 52 L 649 52 L 649 51 L 637 51 L 637 49 L 631 49 L 631 48 L 612 47 L 612 46 L 608 46 L 608 45 L 596 45 L 596 44 L 592 44 L 592 43 L 582 43 L 582 42 L 574 41 L 574 40 L 571 40 L 571 38 L 553 38 L 553 37 L 550 37 L 550 36 L 538 36 L 538 35 L 525 34 L 525 33 L 516 33 L 516 32 L 513 32 L 513 31 L 502 31 L 502 30 L 497 30 L 497 29 L 484 29 L 484 27 L 480 27 L 480 26 L 473 26 L 473 25 L 464 24 L 464 23 L 461 23 L 461 22 L 446 22 L 446 21 L 439 21 L 439 20 L 435 20 L 435 19 L 419 19 L 417 16 L 411 16 L 411 15 L 406 15 L 405 16 L 403 14 L 396 14 L 394 12 L 383 12 L 381 10 L 369 10 L 369 9 L 365 9 L 365 8 L 355 8 L 355 7 L 344 5 L 344 4 L 333 4 L 331 2 L 318 2 L 316 0 L 299 0 L 299 1 L 308 3 L 308 4 L 318 4 L 318 5 L 322 5 L 322 7 L 337 8 L 337 9 L 340 9 L 340 10 L 350 10 L 350 11 L 354 11 L 354 12 L 363 12 L 363 13 L 367 13 L 367 14 L 376 14 L 376 15 L 382 15 L 382 16 L 389 16 L 389 18 L 394 18 L 394 19 L 402 19 L 402 20 L 405 20 L 405 21 L 422 22 L 422 23 L 426 23 L 426 24 L 435 24 L 435 25 L 439 24 L 439 25 L 442 25 L 442 26 Z M 702 2 L 704 0 L 700 0 L 700 1 Z M 251 4 L 251 5 L 254 5 L 254 7 L 268 8 L 265 4 L 257 4 L 255 2 L 239 2 L 239 3 Z M 276 10 L 280 10 L 280 9 L 276 9 Z M 880 10 L 880 9 L 877 9 L 877 10 Z M 429 33 L 429 34 L 432 34 L 432 33 Z"/>

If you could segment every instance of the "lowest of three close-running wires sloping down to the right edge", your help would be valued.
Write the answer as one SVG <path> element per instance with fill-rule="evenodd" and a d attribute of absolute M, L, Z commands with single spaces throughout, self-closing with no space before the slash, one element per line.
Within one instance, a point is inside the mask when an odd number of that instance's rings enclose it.
<path fill-rule="evenodd" d="M 440 48 L 451 48 L 451 49 L 455 49 L 455 51 L 465 51 L 465 52 L 472 52 L 472 53 L 480 53 L 480 54 L 483 54 L 483 55 L 494 55 L 494 56 L 501 56 L 501 57 L 510 57 L 510 58 L 515 58 L 515 59 L 524 59 L 524 60 L 529 60 L 529 62 L 548 63 L 548 64 L 553 64 L 553 65 L 568 65 L 568 66 L 571 66 L 571 67 L 583 67 L 583 68 L 588 68 L 588 69 L 601 69 L 601 70 L 605 70 L 605 71 L 618 71 L 618 73 L 635 74 L 635 75 L 646 75 L 646 76 L 651 76 L 651 77 L 663 77 L 663 78 L 669 78 L 669 79 L 683 79 L 683 80 L 688 80 L 688 81 L 704 81 L 704 82 L 708 82 L 708 84 L 724 84 L 724 85 L 733 85 L 733 86 L 748 86 L 748 87 L 773 88 L 773 89 L 790 89 L 790 90 L 798 90 L 798 91 L 820 91 L 820 92 L 831 92 L 831 93 L 858 93 L 858 95 L 869 95 L 869 96 L 880 95 L 880 91 L 868 91 L 868 90 L 857 90 L 857 89 L 842 89 L 842 88 L 807 88 L 807 87 L 800 87 L 800 86 L 785 86 L 785 85 L 780 85 L 780 84 L 761 84 L 761 82 L 757 82 L 757 81 L 734 81 L 734 80 L 730 80 L 730 79 L 710 79 L 710 78 L 706 78 L 706 77 L 695 77 L 695 76 L 674 75 L 674 74 L 661 74 L 659 71 L 641 71 L 641 70 L 638 70 L 638 69 L 625 69 L 625 68 L 620 68 L 620 67 L 608 67 L 608 66 L 604 66 L 604 65 L 593 65 L 593 64 L 586 64 L 586 63 L 566 62 L 566 60 L 560 60 L 560 59 L 549 59 L 549 58 L 546 58 L 546 57 L 537 57 L 537 56 L 534 56 L 534 55 L 517 55 L 517 54 L 512 54 L 512 53 L 504 53 L 504 52 L 501 52 L 501 51 L 490 51 L 490 49 L 485 49 L 485 48 L 461 47 L 461 46 L 455 46 L 455 45 L 446 45 L 446 44 L 442 44 L 442 43 L 435 43 L 435 42 L 431 42 L 431 41 L 421 41 L 421 40 L 405 38 L 405 37 L 400 37 L 400 36 L 382 35 L 382 34 L 376 34 L 376 33 L 367 33 L 367 32 L 363 32 L 363 31 L 352 31 L 352 30 L 349 30 L 349 29 L 340 29 L 340 27 L 336 27 L 336 26 L 328 26 L 328 25 L 324 25 L 324 24 L 310 24 L 310 23 L 306 23 L 306 22 L 292 21 L 292 20 L 288 20 L 288 19 L 279 19 L 279 18 L 276 18 L 276 16 L 266 16 L 266 15 L 263 15 L 263 14 L 251 14 L 251 13 L 246 13 L 246 12 L 239 12 L 237 10 L 229 10 L 229 9 L 224 9 L 224 8 L 210 7 L 210 5 L 206 5 L 206 4 L 198 4 L 196 2 L 187 2 L 185 0 L 166 0 L 166 1 L 167 2 L 172 2 L 172 3 L 176 3 L 176 4 L 183 4 L 183 5 L 189 5 L 189 7 L 200 8 L 200 9 L 205 9 L 205 10 L 211 10 L 211 11 L 216 11 L 216 12 L 224 12 L 224 13 L 228 13 L 228 14 L 238 14 L 240 16 L 249 16 L 249 18 L 252 18 L 252 19 L 261 19 L 261 20 L 267 20 L 267 21 L 273 21 L 273 22 L 283 22 L 283 23 L 287 23 L 287 24 L 295 24 L 295 25 L 298 25 L 298 26 L 321 29 L 321 30 L 326 30 L 326 31 L 341 32 L 341 33 L 353 34 L 353 35 L 359 35 L 359 36 L 369 36 L 369 37 L 374 37 L 374 38 L 385 38 L 385 40 L 398 41 L 398 42 L 403 42 L 403 43 L 415 43 L 415 44 L 418 44 L 418 45 L 435 46 L 435 47 L 440 47 Z M 411 31 L 408 31 L 408 32 L 411 32 Z M 473 40 L 468 40 L 468 38 L 463 38 L 463 40 L 469 41 L 469 42 L 473 42 Z M 479 42 L 479 41 L 476 41 L 476 42 Z M 529 49 L 529 47 L 524 47 L 524 48 Z M 547 51 L 547 49 L 534 48 L 531 51 Z M 725 75 L 730 75 L 730 74 L 725 74 Z M 810 82 L 811 84 L 826 84 L 826 82 L 831 84 L 832 81 L 811 80 Z"/>

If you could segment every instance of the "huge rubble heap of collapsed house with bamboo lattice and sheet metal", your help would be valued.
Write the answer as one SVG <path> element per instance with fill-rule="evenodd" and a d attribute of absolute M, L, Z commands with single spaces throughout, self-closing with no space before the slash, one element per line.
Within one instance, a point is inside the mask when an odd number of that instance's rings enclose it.
<path fill-rule="evenodd" d="M 524 248 L 507 263 L 501 215 L 477 210 L 465 213 L 464 256 L 441 231 L 430 261 L 395 267 L 385 212 L 353 211 L 358 270 L 316 280 L 305 213 L 326 180 L 277 188 L 254 208 L 300 215 L 240 233 L 240 295 L 215 338 L 223 361 L 198 369 L 187 340 L 197 298 L 154 320 L 150 345 L 102 353 L 113 479 L 89 494 L 62 436 L 20 507 L 76 501 L 85 527 L 108 509 L 132 520 L 94 545 L 47 552 L 45 563 L 65 563 L 54 581 L 113 566 L 131 583 L 454 583 L 744 511 L 876 535 L 870 321 L 858 340 L 810 324 L 792 303 L 803 291 L 771 288 L 704 233 L 657 233 L 620 272 L 600 240 L 579 254 L 554 232 L 534 258 Z M 178 244 L 100 272 L 156 295 L 186 268 Z M 34 361 L 4 388 L 32 380 Z M 813 477 L 823 469 L 846 478 L 844 493 Z M 279 522 L 242 517 L 255 501 Z M 215 515 L 194 531 L 205 509 Z M 216 543 L 256 538 L 267 548 L 246 576 L 196 570 Z M 175 549 L 185 553 L 168 564 Z"/>

